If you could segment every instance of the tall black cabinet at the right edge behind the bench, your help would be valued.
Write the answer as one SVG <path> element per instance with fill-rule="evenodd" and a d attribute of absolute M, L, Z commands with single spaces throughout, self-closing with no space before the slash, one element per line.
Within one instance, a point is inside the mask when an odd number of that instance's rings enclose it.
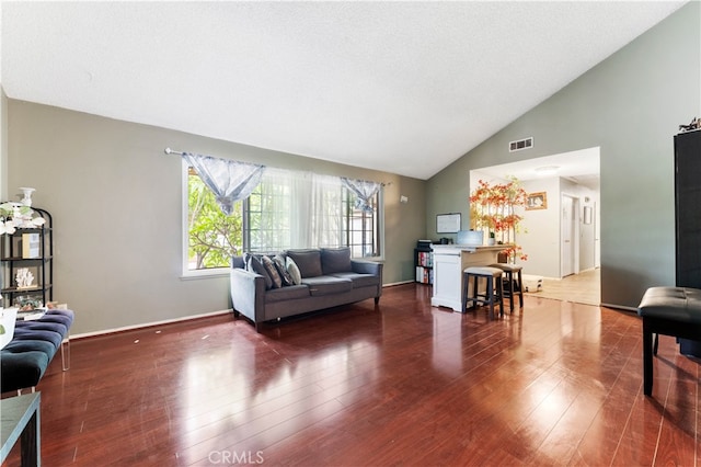
<path fill-rule="evenodd" d="M 675 136 L 675 227 L 677 286 L 701 288 L 701 130 Z M 701 356 L 701 341 L 680 344 Z"/>

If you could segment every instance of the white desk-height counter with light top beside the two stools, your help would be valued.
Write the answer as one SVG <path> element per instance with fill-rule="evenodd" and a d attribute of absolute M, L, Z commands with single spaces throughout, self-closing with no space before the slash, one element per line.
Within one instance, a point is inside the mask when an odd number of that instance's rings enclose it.
<path fill-rule="evenodd" d="M 487 266 L 497 262 L 504 244 L 471 247 L 467 244 L 433 244 L 434 295 L 430 305 L 462 312 L 462 271 L 468 266 Z"/>

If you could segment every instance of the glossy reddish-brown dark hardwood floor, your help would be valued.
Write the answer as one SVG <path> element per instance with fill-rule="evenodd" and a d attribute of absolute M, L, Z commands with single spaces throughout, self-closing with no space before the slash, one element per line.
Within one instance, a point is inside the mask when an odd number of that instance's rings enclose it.
<path fill-rule="evenodd" d="M 647 398 L 632 312 L 528 296 L 489 321 L 429 293 L 73 340 L 37 386 L 43 463 L 701 466 L 701 369 L 673 338 Z"/>

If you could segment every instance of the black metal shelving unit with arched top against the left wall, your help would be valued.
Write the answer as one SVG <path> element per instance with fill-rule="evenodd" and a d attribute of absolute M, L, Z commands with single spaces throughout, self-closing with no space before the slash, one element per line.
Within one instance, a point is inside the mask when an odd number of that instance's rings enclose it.
<path fill-rule="evenodd" d="M 20 297 L 41 299 L 44 306 L 54 299 L 54 223 L 47 210 L 32 209 L 46 221 L 42 227 L 18 228 L 14 234 L 0 237 L 0 301 L 4 307 L 14 305 Z M 18 287 L 16 273 L 21 267 L 27 267 L 34 275 L 31 287 Z"/>

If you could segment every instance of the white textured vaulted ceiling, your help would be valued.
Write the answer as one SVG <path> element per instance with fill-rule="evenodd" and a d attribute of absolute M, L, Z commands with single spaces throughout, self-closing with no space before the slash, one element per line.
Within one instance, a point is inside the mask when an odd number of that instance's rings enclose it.
<path fill-rule="evenodd" d="M 2 2 L 1 83 L 428 179 L 683 3 Z"/>

